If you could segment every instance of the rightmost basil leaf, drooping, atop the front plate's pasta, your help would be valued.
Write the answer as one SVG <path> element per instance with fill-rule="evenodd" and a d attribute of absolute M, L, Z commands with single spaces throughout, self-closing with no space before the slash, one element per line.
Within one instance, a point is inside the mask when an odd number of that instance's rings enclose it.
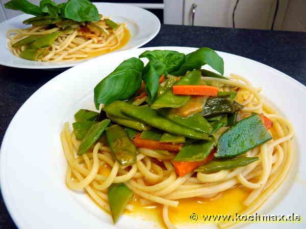
<path fill-rule="evenodd" d="M 199 48 L 186 55 L 185 63 L 176 71 L 170 72 L 171 75 L 185 75 L 187 71 L 200 69 L 208 64 L 221 75 L 224 73 L 224 62 L 214 50 L 210 48 Z"/>

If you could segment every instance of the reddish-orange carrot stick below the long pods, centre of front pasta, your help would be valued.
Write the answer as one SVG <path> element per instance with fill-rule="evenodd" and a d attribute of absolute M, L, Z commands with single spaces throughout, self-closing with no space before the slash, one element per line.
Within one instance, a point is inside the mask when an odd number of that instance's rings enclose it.
<path fill-rule="evenodd" d="M 182 144 L 172 144 L 166 142 L 159 142 L 151 139 L 140 138 L 140 134 L 138 134 L 134 138 L 134 145 L 136 147 L 148 148 L 152 150 L 167 150 L 171 152 L 179 152 L 183 147 Z"/>

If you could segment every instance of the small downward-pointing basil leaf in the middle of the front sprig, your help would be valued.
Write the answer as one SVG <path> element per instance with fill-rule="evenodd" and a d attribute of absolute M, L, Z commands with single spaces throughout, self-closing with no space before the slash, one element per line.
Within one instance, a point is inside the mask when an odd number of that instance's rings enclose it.
<path fill-rule="evenodd" d="M 159 60 L 151 60 L 143 69 L 142 79 L 149 100 L 152 101 L 159 87 L 159 77 L 166 74 L 166 65 Z"/>

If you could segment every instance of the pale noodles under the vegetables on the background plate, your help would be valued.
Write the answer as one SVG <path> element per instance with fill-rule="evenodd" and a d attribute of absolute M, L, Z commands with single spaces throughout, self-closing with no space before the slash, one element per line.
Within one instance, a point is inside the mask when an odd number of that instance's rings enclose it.
<path fill-rule="evenodd" d="M 14 55 L 20 57 L 20 52 L 25 49 L 25 46 L 12 47 L 16 42 L 30 35 L 61 32 L 53 45 L 49 47 L 49 52 L 37 61 L 62 62 L 91 58 L 98 55 L 99 52 L 108 52 L 120 48 L 126 42 L 123 41 L 124 37 L 129 34 L 125 24 L 118 24 L 119 26 L 113 30 L 105 24 L 104 19 L 108 19 L 108 17 L 101 17 L 100 21 L 96 22 L 105 32 L 100 36 L 91 33 L 85 26 L 71 26 L 69 30 L 60 30 L 60 27 L 49 28 L 48 25 L 33 25 L 20 30 L 12 29 L 7 33 L 8 47 Z"/>

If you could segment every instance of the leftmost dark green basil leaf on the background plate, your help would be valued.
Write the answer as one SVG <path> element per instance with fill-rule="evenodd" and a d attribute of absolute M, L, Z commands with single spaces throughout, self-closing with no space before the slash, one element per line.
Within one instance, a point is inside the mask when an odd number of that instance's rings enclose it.
<path fill-rule="evenodd" d="M 43 15 L 43 12 L 38 6 L 35 6 L 34 4 L 29 3 L 26 0 L 12 0 L 4 4 L 4 7 L 10 10 L 20 10 L 26 14 L 32 14 L 35 16 Z"/>

